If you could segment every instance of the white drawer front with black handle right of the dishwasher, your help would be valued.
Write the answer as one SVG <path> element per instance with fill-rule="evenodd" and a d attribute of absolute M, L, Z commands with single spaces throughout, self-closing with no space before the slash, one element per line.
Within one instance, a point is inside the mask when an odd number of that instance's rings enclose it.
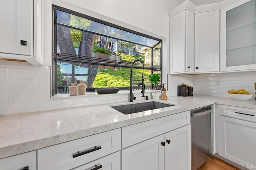
<path fill-rule="evenodd" d="M 256 109 L 218 105 L 218 115 L 256 122 Z"/>

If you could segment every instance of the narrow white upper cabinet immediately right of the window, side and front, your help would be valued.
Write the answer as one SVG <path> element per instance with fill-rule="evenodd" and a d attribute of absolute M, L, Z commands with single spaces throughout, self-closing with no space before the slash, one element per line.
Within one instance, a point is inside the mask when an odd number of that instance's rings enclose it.
<path fill-rule="evenodd" d="M 169 73 L 194 72 L 194 14 L 183 10 L 169 24 Z"/>

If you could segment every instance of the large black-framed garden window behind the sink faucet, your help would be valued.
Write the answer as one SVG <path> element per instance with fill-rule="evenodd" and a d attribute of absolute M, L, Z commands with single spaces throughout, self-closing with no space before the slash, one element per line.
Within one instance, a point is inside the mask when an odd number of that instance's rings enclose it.
<path fill-rule="evenodd" d="M 52 95 L 68 93 L 71 83 L 80 80 L 86 83 L 86 91 L 128 90 L 130 67 L 136 59 L 144 61 L 144 82 L 146 89 L 152 89 L 148 76 L 162 71 L 161 40 L 59 6 L 53 6 L 53 12 Z M 137 63 L 133 79 L 141 76 L 142 64 Z"/>

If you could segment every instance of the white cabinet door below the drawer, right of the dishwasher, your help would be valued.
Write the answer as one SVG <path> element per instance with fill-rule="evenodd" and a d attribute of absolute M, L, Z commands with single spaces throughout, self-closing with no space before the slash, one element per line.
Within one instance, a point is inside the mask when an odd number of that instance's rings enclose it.
<path fill-rule="evenodd" d="M 219 155 L 256 169 L 256 123 L 219 116 Z"/>

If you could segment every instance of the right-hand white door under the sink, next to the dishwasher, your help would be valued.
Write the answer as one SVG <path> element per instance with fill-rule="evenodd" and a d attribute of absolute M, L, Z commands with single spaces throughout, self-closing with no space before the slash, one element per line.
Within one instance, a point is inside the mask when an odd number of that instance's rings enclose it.
<path fill-rule="evenodd" d="M 164 134 L 165 170 L 191 169 L 191 132 L 190 125 Z M 168 141 L 170 140 L 170 141 Z"/>

